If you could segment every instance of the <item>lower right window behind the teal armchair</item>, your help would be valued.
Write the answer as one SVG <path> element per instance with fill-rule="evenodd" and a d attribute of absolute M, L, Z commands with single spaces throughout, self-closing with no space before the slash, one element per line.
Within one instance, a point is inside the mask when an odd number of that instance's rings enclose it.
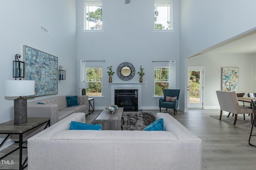
<path fill-rule="evenodd" d="M 164 89 L 169 88 L 169 67 L 155 67 L 155 96 L 164 96 Z"/>

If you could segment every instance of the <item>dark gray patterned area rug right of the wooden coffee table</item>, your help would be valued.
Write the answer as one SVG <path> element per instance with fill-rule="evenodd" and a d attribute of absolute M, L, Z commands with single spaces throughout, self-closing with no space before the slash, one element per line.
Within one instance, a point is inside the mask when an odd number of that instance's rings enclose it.
<path fill-rule="evenodd" d="M 156 120 L 156 117 L 153 113 L 149 112 L 126 112 L 123 113 L 124 125 L 123 130 L 127 131 L 143 131 L 143 129 L 150 125 L 153 121 Z"/>

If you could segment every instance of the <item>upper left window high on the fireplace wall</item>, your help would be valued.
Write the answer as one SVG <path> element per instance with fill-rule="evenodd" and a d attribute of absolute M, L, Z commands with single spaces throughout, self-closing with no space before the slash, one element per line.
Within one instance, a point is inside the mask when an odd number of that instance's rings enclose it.
<path fill-rule="evenodd" d="M 102 30 L 102 2 L 84 2 L 84 29 Z"/>

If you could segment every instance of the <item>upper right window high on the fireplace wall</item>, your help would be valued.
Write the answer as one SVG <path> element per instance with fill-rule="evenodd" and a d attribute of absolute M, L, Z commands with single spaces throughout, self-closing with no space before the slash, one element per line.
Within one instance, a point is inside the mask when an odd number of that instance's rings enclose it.
<path fill-rule="evenodd" d="M 154 1 L 154 30 L 172 30 L 172 1 Z"/>

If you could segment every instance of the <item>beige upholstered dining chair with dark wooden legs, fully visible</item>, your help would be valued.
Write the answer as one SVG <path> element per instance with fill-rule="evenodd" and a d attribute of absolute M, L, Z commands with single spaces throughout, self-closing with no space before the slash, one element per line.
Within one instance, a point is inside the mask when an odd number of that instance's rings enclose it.
<path fill-rule="evenodd" d="M 248 107 L 239 106 L 236 92 L 222 92 L 216 91 L 218 101 L 220 104 L 220 120 L 222 117 L 222 111 L 227 111 L 235 114 L 234 124 L 236 125 L 237 114 L 253 113 L 253 110 Z M 251 114 L 251 123 L 253 122 L 253 114 Z"/>

